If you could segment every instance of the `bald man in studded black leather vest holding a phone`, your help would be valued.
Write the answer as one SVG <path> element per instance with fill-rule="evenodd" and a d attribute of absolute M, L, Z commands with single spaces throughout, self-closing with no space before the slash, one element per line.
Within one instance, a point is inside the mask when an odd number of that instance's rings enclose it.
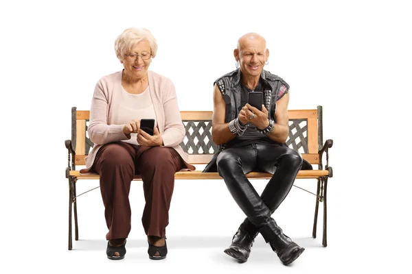
<path fill-rule="evenodd" d="M 218 171 L 247 216 L 225 253 L 246 262 L 253 240 L 260 233 L 283 264 L 288 265 L 304 248 L 282 232 L 271 214 L 288 195 L 302 166 L 300 153 L 285 143 L 289 132 L 289 85 L 264 71 L 269 50 L 259 34 L 242 36 L 233 55 L 236 71 L 214 82 L 211 136 L 220 149 L 204 171 Z M 254 101 L 260 101 L 254 106 L 248 103 L 251 92 L 256 92 Z M 262 195 L 245 176 L 251 171 L 273 174 Z"/>

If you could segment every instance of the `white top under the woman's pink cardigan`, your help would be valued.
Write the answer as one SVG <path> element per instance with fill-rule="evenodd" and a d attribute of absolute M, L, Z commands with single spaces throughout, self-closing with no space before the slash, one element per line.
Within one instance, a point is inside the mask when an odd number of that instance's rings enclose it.
<path fill-rule="evenodd" d="M 132 120 L 140 119 L 155 119 L 155 127 L 157 127 L 155 108 L 150 98 L 149 87 L 140 94 L 129 93 L 122 87 L 119 108 L 117 108 L 117 122 L 119 124 L 128 124 Z M 130 139 L 122 141 L 139 145 L 136 133 L 130 134 Z"/>

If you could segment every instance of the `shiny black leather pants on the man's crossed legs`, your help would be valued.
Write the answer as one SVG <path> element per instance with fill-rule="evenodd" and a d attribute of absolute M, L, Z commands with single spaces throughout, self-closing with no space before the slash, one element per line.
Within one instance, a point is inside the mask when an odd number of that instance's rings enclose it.
<path fill-rule="evenodd" d="M 217 158 L 218 173 L 233 199 L 246 214 L 242 227 L 250 234 L 260 232 L 266 242 L 282 232 L 271 214 L 284 201 L 302 165 L 299 152 L 288 147 L 247 145 L 222 151 Z M 273 173 L 262 195 L 244 175 L 251 171 Z"/>

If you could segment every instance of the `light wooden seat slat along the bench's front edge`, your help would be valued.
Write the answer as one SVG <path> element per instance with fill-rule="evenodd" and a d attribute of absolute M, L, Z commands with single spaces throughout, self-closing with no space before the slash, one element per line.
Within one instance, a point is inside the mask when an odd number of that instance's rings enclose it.
<path fill-rule="evenodd" d="M 77 179 L 99 179 L 98 174 L 80 175 L 79 171 L 70 171 L 71 176 L 76 176 Z M 325 170 L 314 171 L 299 171 L 297 179 L 316 179 L 322 176 L 328 176 L 329 172 Z M 249 179 L 271 179 L 271 173 L 251 172 L 247 173 Z M 174 175 L 174 179 L 222 179 L 218 173 L 202 173 L 202 171 L 179 171 Z M 135 175 L 134 181 L 140 181 L 141 177 Z"/>

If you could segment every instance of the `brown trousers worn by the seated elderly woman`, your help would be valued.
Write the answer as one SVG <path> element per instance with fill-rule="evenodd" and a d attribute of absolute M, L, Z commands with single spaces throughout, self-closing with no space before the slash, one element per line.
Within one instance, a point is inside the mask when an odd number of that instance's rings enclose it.
<path fill-rule="evenodd" d="M 141 221 L 148 236 L 165 235 L 174 188 L 174 173 L 184 162 L 171 147 L 144 147 L 113 142 L 101 147 L 92 170 L 100 175 L 100 191 L 108 233 L 106 240 L 127 238 L 130 232 L 128 195 L 135 174 L 143 180 L 144 207 Z"/>

